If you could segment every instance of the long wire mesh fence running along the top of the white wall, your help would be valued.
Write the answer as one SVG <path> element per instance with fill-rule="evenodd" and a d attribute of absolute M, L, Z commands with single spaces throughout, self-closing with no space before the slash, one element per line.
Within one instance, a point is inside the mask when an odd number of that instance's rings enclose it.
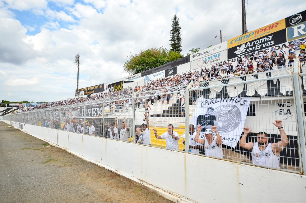
<path fill-rule="evenodd" d="M 305 68 L 305 67 L 303 67 Z M 303 69 L 304 70 L 304 69 Z M 297 115 L 306 105 L 305 71 L 291 68 L 177 85 L 173 78 L 82 103 L 4 119 L 106 139 L 302 172 Z M 294 88 L 303 93 L 295 101 Z M 296 102 L 304 108 L 297 109 Z M 304 135 L 305 136 L 305 135 Z M 187 146 L 186 146 L 187 145 Z"/>

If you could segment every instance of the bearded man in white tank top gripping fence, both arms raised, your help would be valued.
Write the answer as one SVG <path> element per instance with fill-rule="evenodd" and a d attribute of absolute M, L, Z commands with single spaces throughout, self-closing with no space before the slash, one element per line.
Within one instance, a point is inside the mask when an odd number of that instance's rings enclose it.
<path fill-rule="evenodd" d="M 272 122 L 280 130 L 280 141 L 277 143 L 268 143 L 269 138 L 267 133 L 259 132 L 257 133 L 257 142 L 246 143 L 247 135 L 252 131 L 248 127 L 243 128 L 244 133 L 240 139 L 239 146 L 252 150 L 252 160 L 253 164 L 266 166 L 270 168 L 280 168 L 279 153 L 287 146 L 289 143 L 288 137 L 283 129 L 283 124 L 281 120 L 275 120 Z"/>

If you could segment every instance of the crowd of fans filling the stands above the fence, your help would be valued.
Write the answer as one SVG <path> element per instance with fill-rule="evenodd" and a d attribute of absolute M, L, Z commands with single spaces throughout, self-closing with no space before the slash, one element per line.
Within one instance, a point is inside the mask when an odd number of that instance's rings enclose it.
<path fill-rule="evenodd" d="M 302 64 L 306 64 L 305 57 L 305 38 L 303 39 L 302 44 L 300 45 L 301 51 L 298 55 L 298 60 L 302 62 Z M 211 68 L 201 68 L 201 70 L 189 71 L 182 74 L 177 74 L 167 78 L 159 78 L 156 80 L 151 80 L 147 84 L 142 86 L 136 86 L 134 89 L 132 87 L 124 88 L 118 92 L 100 92 L 98 94 L 92 94 L 90 96 L 84 97 L 76 97 L 61 101 L 53 101 L 44 103 L 40 106 L 28 106 L 21 109 L 19 112 L 24 111 L 32 111 L 36 109 L 44 109 L 50 108 L 54 106 L 64 106 L 64 105 L 72 105 L 76 103 L 82 103 L 92 100 L 98 100 L 110 96 L 112 98 L 119 99 L 122 95 L 131 95 L 133 92 L 139 91 L 139 95 L 143 95 L 144 97 L 138 98 L 135 100 L 135 109 L 136 108 L 145 108 L 145 103 L 149 103 L 151 101 L 151 105 L 155 102 L 161 102 L 162 104 L 169 104 L 169 101 L 172 99 L 173 94 L 171 92 L 182 90 L 186 87 L 191 81 L 199 85 L 199 83 L 216 80 L 220 78 L 234 77 L 246 75 L 249 73 L 259 73 L 264 71 L 269 71 L 274 68 L 285 68 L 286 64 L 288 67 L 292 66 L 294 60 L 296 59 L 295 49 L 293 44 L 290 44 L 288 47 L 288 62 L 286 63 L 285 59 L 285 50 L 282 47 L 279 50 L 279 53 L 276 52 L 276 48 L 274 46 L 271 47 L 270 51 L 260 50 L 258 52 L 254 52 L 251 55 L 245 56 L 244 58 L 239 57 L 237 60 L 237 64 L 234 65 L 231 60 L 228 62 L 224 62 L 222 65 L 215 64 L 212 65 Z M 154 91 L 155 94 L 162 94 L 160 96 L 147 96 L 148 92 Z M 167 94 L 168 93 L 168 94 Z M 197 93 L 192 95 L 192 97 L 197 97 Z M 166 101 L 166 102 L 165 102 Z M 129 106 L 132 106 L 131 100 L 121 100 L 121 101 L 110 101 L 107 103 L 110 109 L 114 109 L 114 111 L 123 111 L 127 109 Z"/>

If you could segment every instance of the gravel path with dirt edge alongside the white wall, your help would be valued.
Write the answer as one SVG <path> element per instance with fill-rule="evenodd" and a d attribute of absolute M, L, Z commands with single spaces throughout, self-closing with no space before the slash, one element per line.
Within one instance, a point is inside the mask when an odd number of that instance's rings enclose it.
<path fill-rule="evenodd" d="M 0 202 L 172 202 L 0 122 Z"/>

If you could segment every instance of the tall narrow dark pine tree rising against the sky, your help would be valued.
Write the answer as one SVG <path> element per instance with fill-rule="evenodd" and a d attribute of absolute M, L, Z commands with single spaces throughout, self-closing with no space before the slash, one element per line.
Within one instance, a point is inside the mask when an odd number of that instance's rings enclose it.
<path fill-rule="evenodd" d="M 176 14 L 172 18 L 171 27 L 172 29 L 170 30 L 170 50 L 180 53 L 182 51 L 182 32 L 181 27 L 179 26 L 179 18 L 176 16 Z"/>

